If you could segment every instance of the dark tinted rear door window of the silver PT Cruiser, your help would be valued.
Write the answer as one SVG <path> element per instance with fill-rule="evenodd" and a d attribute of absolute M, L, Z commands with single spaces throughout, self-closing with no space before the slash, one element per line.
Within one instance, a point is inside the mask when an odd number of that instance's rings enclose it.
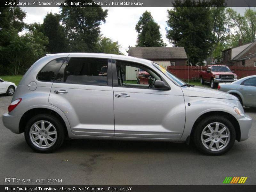
<path fill-rule="evenodd" d="M 74 57 L 62 65 L 55 82 L 107 85 L 107 76 L 108 59 Z"/>

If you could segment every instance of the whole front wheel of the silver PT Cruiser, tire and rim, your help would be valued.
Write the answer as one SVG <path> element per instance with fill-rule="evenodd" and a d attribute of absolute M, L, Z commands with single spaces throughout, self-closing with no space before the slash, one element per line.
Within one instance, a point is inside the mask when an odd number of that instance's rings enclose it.
<path fill-rule="evenodd" d="M 225 117 L 202 119 L 193 135 L 196 147 L 206 155 L 222 155 L 232 148 L 236 140 L 233 124 Z"/>

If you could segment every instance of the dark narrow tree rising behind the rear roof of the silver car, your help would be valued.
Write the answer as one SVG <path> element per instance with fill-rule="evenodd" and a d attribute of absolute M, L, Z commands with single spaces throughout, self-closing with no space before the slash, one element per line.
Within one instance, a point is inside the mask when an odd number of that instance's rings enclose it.
<path fill-rule="evenodd" d="M 60 25 L 60 15 L 52 12 L 47 13 L 42 25 L 42 31 L 49 39 L 49 44 L 46 46 L 47 52 L 60 53 L 67 52 L 67 39 L 65 37 L 64 28 Z"/>

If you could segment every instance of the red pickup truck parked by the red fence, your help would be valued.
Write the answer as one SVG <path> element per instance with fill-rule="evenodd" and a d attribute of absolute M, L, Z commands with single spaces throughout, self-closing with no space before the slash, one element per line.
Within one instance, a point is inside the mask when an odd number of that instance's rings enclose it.
<path fill-rule="evenodd" d="M 208 65 L 205 71 L 200 71 L 201 84 L 210 83 L 212 89 L 219 83 L 233 82 L 237 80 L 237 75 L 226 65 Z"/>

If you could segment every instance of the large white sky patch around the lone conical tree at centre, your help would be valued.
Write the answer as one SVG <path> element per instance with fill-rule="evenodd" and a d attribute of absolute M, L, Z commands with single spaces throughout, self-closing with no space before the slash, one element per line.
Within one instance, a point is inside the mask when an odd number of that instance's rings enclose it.
<path fill-rule="evenodd" d="M 167 27 L 167 7 L 108 7 L 108 17 L 106 23 L 101 25 L 101 32 L 107 37 L 111 37 L 114 41 L 118 41 L 121 44 L 122 52 L 128 49 L 128 46 L 134 46 L 136 44 L 137 32 L 135 31 L 135 25 L 140 19 L 143 12 L 151 12 L 154 20 L 161 27 L 160 32 L 164 43 L 167 46 L 171 46 L 166 39 L 165 27 Z"/>

